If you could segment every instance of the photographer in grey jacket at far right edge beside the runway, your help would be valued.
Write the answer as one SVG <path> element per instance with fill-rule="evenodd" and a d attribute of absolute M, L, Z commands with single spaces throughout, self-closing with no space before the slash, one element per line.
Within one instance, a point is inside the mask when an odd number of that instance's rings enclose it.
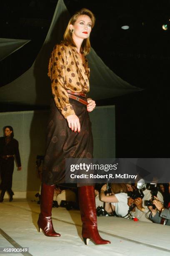
<path fill-rule="evenodd" d="M 170 182 L 169 182 L 169 193 L 170 193 Z M 153 200 L 153 205 L 156 206 L 156 209 L 153 209 L 152 206 L 149 206 L 150 209 L 150 220 L 154 223 L 169 225 L 170 226 L 170 202 L 168 204 L 168 209 L 163 207 L 163 203 L 159 201 L 158 197 L 155 197 Z"/>

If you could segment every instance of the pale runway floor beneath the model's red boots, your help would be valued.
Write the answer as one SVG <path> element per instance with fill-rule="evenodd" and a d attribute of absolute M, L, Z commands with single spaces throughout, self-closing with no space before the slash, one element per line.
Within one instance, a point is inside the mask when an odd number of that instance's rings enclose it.
<path fill-rule="evenodd" d="M 111 244 L 96 246 L 90 241 L 86 246 L 78 210 L 52 208 L 55 231 L 61 234 L 56 238 L 37 231 L 39 211 L 40 205 L 30 200 L 0 203 L 0 247 L 29 247 L 23 255 L 33 256 L 170 256 L 170 226 L 98 217 L 100 235 Z"/>

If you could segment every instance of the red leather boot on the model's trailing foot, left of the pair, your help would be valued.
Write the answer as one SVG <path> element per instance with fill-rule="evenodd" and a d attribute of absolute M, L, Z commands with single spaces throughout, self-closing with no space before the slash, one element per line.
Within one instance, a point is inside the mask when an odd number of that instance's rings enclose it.
<path fill-rule="evenodd" d="M 60 236 L 59 233 L 54 231 L 52 225 L 51 211 L 52 202 L 54 197 L 55 185 L 42 184 L 41 187 L 41 197 L 40 197 L 40 215 L 38 219 L 39 231 L 42 231 L 45 236 Z"/>

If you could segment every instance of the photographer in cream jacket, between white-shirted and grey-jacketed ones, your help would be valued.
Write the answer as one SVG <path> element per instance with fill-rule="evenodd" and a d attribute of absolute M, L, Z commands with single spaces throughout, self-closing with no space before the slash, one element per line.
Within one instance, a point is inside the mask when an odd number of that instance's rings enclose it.
<path fill-rule="evenodd" d="M 151 190 L 149 189 L 143 190 L 143 195 L 144 195 L 143 198 L 137 197 L 133 199 L 129 197 L 128 205 L 131 206 L 132 204 L 135 204 L 135 207 L 133 208 L 131 215 L 138 218 L 138 220 L 151 222 L 151 220 L 147 217 L 147 213 L 149 212 L 148 206 L 144 204 L 145 200 L 149 201 L 152 199 Z M 163 202 L 163 196 L 159 191 L 158 191 L 157 197 L 158 197 L 158 200 Z"/>

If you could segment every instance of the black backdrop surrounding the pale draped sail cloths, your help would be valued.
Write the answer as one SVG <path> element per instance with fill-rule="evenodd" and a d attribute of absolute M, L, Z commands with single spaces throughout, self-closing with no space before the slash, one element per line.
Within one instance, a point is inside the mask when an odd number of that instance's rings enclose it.
<path fill-rule="evenodd" d="M 115 74 L 144 90 L 97 105 L 115 104 L 117 157 L 169 157 L 170 1 L 65 0 L 72 15 L 89 8 L 96 16 L 91 44 Z M 47 35 L 57 0 L 2 1 L 1 38 L 31 39 L 0 62 L 0 86 L 33 63 Z M 128 24 L 129 30 L 121 25 Z M 1 111 L 30 107 L 1 105 Z M 36 109 L 36 107 L 32 107 Z"/>

